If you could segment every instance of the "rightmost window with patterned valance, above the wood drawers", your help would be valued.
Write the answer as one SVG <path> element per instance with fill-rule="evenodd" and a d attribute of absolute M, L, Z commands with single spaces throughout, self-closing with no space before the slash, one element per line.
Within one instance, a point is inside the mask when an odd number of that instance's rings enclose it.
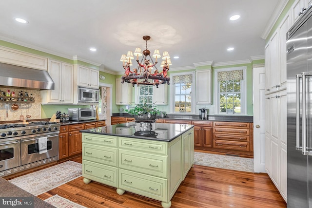
<path fill-rule="evenodd" d="M 246 114 L 246 68 L 215 70 L 216 114 Z"/>

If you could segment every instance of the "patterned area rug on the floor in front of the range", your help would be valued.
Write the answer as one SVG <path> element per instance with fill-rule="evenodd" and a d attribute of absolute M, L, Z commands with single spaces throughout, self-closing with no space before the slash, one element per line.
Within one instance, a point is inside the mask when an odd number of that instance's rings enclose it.
<path fill-rule="evenodd" d="M 38 196 L 41 193 L 66 184 L 81 175 L 82 165 L 74 161 L 67 161 L 9 181 L 21 189 Z"/>

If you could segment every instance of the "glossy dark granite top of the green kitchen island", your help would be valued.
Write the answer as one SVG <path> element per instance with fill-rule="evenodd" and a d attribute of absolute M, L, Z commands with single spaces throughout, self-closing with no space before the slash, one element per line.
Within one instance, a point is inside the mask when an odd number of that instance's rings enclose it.
<path fill-rule="evenodd" d="M 190 124 L 130 122 L 80 132 L 170 142 L 193 127 Z"/>

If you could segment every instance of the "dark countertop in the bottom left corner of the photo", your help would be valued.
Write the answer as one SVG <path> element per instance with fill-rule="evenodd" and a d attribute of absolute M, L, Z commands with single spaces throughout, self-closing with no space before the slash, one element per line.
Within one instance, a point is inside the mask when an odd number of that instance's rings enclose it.
<path fill-rule="evenodd" d="M 27 191 L 0 177 L 0 197 L 34 197 L 34 208 L 55 208 Z M 0 203 L 1 204 L 1 203 Z M 17 206 L 18 207 L 18 206 Z"/>

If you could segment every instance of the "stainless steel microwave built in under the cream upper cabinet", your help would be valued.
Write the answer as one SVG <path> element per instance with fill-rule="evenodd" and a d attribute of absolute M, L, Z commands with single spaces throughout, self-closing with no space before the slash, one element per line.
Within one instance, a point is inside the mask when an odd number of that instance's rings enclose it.
<path fill-rule="evenodd" d="M 98 99 L 99 99 L 98 89 L 78 87 L 78 103 L 98 104 Z"/>

